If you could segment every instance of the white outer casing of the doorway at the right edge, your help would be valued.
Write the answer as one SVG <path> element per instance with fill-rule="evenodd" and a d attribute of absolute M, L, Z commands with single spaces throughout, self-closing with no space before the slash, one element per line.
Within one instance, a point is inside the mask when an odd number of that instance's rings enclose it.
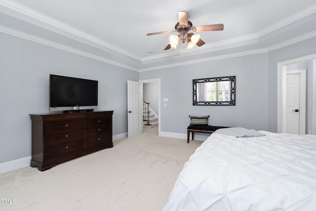
<path fill-rule="evenodd" d="M 286 65 L 307 62 L 314 59 L 316 59 L 316 53 L 277 63 L 277 132 L 278 133 L 285 132 L 284 127 L 286 127 L 285 116 L 284 116 L 284 113 L 286 113 L 286 109 L 285 109 L 286 83 L 284 83 L 286 82 Z M 306 109 L 306 106 L 304 107 L 304 109 Z M 305 123 L 306 121 L 304 122 L 304 124 Z M 305 131 L 304 131 L 304 134 L 305 134 Z"/>

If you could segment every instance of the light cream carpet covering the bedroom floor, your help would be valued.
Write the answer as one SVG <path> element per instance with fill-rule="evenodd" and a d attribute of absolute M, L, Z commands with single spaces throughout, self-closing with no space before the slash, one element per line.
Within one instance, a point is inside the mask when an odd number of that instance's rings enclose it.
<path fill-rule="evenodd" d="M 161 211 L 200 144 L 158 136 L 154 127 L 46 171 L 26 167 L 3 173 L 0 210 Z"/>

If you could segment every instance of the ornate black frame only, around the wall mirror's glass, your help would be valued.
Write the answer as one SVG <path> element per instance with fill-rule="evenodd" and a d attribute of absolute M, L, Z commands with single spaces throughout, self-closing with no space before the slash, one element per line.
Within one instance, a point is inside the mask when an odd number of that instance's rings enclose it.
<path fill-rule="evenodd" d="M 197 85 L 198 83 L 230 81 L 230 101 L 198 101 Z M 236 76 L 194 79 L 193 80 L 193 105 L 235 105 L 236 104 Z"/>

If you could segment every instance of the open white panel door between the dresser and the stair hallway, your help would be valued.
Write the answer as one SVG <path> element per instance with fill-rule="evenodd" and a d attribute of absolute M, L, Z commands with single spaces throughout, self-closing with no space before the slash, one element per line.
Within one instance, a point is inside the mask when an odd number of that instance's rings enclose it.
<path fill-rule="evenodd" d="M 143 132 L 143 84 L 127 81 L 127 137 L 142 134 Z"/>

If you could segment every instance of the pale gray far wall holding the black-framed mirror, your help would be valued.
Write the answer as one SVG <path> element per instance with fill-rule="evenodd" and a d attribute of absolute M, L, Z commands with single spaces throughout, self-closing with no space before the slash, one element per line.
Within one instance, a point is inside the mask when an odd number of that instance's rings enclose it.
<path fill-rule="evenodd" d="M 161 131 L 186 133 L 189 115 L 210 115 L 213 126 L 268 129 L 268 53 L 140 73 L 161 79 Z M 193 79 L 236 76 L 236 106 L 193 106 Z M 163 107 L 168 98 L 168 107 Z"/>

